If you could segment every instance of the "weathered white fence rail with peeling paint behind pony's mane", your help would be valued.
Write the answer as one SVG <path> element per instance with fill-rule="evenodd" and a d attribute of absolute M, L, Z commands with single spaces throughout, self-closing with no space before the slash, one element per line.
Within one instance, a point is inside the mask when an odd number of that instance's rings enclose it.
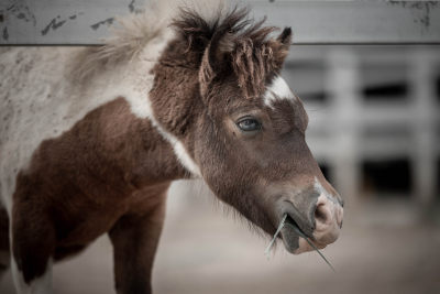
<path fill-rule="evenodd" d="M 148 0 L 2 0 L 0 45 L 100 44 L 116 15 Z M 232 1 L 239 2 L 239 1 Z M 440 44 L 436 1 L 240 1 L 292 26 L 296 44 Z"/>

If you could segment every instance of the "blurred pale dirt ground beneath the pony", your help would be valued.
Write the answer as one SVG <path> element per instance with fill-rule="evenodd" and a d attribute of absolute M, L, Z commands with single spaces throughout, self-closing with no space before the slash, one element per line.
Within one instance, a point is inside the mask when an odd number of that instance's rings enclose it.
<path fill-rule="evenodd" d="M 409 200 L 345 206 L 337 243 L 290 255 L 279 246 L 267 260 L 267 239 L 224 214 L 202 187 L 172 187 L 153 276 L 156 294 L 440 293 L 440 224 Z M 439 211 L 439 210 L 437 210 Z M 114 293 L 111 246 L 98 239 L 79 257 L 54 266 L 57 294 Z M 12 294 L 7 273 L 0 293 Z"/>

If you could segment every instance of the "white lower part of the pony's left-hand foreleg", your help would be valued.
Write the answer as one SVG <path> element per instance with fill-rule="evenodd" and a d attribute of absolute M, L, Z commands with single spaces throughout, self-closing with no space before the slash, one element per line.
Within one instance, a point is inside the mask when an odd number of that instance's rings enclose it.
<path fill-rule="evenodd" d="M 12 254 L 11 254 L 12 255 Z M 52 293 L 52 258 L 47 261 L 46 272 L 26 284 L 22 272 L 16 266 L 15 260 L 11 258 L 12 280 L 15 290 L 20 294 L 51 294 Z"/>

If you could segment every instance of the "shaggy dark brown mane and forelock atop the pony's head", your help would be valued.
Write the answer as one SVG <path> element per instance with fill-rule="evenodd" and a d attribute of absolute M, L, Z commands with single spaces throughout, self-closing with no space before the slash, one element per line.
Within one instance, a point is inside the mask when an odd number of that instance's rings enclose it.
<path fill-rule="evenodd" d="M 257 22 L 250 19 L 248 8 L 235 7 L 229 12 L 218 9 L 217 14 L 208 19 L 183 8 L 172 26 L 186 40 L 188 51 L 200 54 L 200 59 L 212 39 L 220 37 L 215 58 L 229 63 L 244 95 L 253 97 L 264 90 L 271 73 L 280 70 L 288 53 L 282 42 L 270 39 L 278 28 L 263 26 L 265 21 L 266 18 Z"/>

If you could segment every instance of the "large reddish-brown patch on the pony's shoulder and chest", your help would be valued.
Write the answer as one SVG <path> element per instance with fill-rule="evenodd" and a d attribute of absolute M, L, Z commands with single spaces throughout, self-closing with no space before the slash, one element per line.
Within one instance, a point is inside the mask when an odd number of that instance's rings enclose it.
<path fill-rule="evenodd" d="M 123 215 L 152 210 L 184 176 L 169 145 L 123 98 L 44 141 L 13 198 L 13 252 L 25 281 L 44 272 L 48 257 L 79 251 Z"/>

